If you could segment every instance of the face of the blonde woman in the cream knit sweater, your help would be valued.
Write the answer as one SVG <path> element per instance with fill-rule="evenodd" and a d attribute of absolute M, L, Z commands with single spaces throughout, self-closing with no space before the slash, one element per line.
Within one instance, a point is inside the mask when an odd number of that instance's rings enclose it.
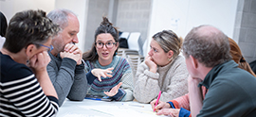
<path fill-rule="evenodd" d="M 170 62 L 168 60 L 168 58 L 170 58 L 168 53 L 165 53 L 161 46 L 154 39 L 152 39 L 150 42 L 150 51 L 148 55 L 149 57 L 153 58 L 153 61 L 158 66 L 165 66 Z"/>

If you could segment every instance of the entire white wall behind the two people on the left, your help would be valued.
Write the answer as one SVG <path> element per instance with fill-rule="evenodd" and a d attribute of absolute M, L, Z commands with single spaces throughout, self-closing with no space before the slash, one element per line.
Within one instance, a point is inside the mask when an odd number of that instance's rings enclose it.
<path fill-rule="evenodd" d="M 78 46 L 83 49 L 88 0 L 3 0 L 0 1 L 0 10 L 5 14 L 7 20 L 19 11 L 26 9 L 43 9 L 48 13 L 54 8 L 67 8 L 78 15 L 80 21 L 80 32 L 78 34 Z M 82 50 L 83 52 L 83 50 Z"/>

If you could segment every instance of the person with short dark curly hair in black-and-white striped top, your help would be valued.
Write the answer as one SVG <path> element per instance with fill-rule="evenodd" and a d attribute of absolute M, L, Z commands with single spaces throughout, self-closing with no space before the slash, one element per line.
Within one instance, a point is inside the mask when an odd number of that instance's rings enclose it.
<path fill-rule="evenodd" d="M 59 31 L 43 10 L 16 13 L 0 50 L 0 116 L 51 117 L 58 112 L 46 66 L 52 37 Z"/>

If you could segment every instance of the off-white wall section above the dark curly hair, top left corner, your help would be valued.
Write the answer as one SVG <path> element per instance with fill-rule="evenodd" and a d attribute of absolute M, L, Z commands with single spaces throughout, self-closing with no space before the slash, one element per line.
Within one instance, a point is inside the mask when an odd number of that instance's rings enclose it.
<path fill-rule="evenodd" d="M 10 18 L 19 11 L 27 9 L 42 9 L 46 12 L 54 9 L 54 0 L 2 0 L 0 10 L 5 14 L 9 22 Z"/>

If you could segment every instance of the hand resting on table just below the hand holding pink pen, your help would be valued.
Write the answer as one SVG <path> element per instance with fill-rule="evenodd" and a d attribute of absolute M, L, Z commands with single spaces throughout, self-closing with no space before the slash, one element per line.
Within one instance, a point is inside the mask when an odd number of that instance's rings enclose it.
<path fill-rule="evenodd" d="M 178 117 L 180 109 L 161 109 L 159 110 L 156 115 L 166 115 L 171 117 Z"/>

